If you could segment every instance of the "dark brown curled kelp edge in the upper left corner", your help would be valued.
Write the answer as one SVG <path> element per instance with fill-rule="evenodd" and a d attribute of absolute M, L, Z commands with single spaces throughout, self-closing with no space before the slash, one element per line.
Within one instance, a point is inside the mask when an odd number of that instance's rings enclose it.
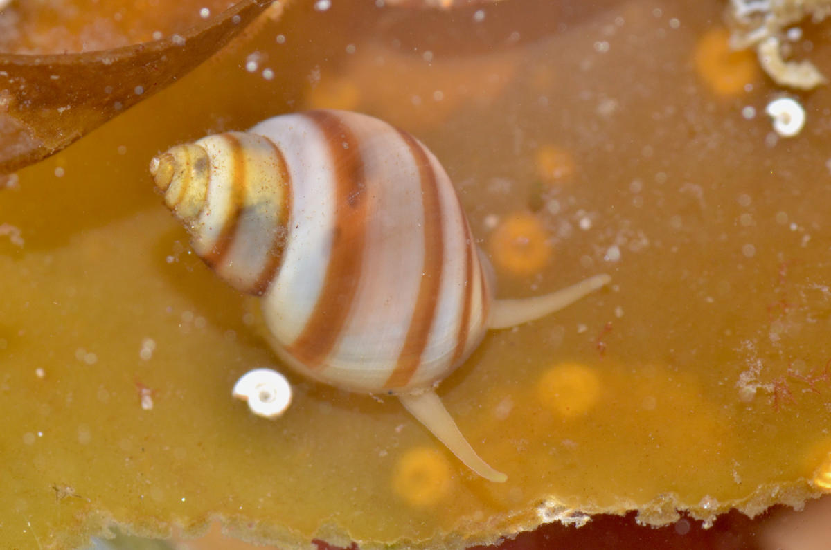
<path fill-rule="evenodd" d="M 0 174 L 70 145 L 184 76 L 271 0 L 243 0 L 187 32 L 102 52 L 0 54 Z"/>

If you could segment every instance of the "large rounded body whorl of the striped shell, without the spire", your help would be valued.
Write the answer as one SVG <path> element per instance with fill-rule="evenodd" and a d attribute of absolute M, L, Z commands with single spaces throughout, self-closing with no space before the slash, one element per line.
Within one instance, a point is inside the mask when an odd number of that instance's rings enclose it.
<path fill-rule="evenodd" d="M 263 296 L 298 371 L 364 392 L 429 387 L 479 344 L 491 298 L 455 189 L 416 138 L 319 110 L 254 126 L 286 157 L 293 209 Z"/>

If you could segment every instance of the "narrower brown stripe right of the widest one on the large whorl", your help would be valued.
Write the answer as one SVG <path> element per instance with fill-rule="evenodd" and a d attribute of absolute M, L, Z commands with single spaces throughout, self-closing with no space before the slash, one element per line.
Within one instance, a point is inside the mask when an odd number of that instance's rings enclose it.
<path fill-rule="evenodd" d="M 421 356 L 430 339 L 430 328 L 435 320 L 445 256 L 441 199 L 435 170 L 416 139 L 400 130 L 399 134 L 410 148 L 419 171 L 421 202 L 424 211 L 424 266 L 421 269 L 416 309 L 413 311 L 396 367 L 386 381 L 387 389 L 406 386 L 421 364 Z"/>

